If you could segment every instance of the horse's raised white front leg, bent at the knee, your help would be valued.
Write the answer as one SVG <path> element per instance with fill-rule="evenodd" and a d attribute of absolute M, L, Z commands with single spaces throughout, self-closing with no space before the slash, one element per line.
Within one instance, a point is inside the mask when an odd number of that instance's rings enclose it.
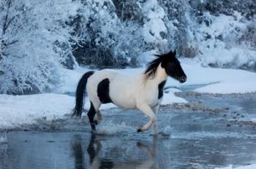
<path fill-rule="evenodd" d="M 154 111 L 151 109 L 151 107 L 147 104 L 139 106 L 138 109 L 140 109 L 140 111 L 142 111 L 144 114 L 150 117 L 150 120 L 146 123 L 146 125 L 143 125 L 143 127 L 138 128 L 137 132 L 148 130 L 148 128 L 157 121 L 157 116 L 156 114 L 154 114 Z M 157 129 L 155 128 L 155 126 L 153 129 L 153 134 L 157 135 Z"/>

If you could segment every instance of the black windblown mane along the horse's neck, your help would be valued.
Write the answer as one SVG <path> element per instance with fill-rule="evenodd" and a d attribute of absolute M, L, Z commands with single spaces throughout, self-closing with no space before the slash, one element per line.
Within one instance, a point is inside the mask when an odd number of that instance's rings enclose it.
<path fill-rule="evenodd" d="M 156 56 L 156 58 L 154 60 L 151 60 L 148 63 L 148 66 L 147 66 L 144 74 L 154 78 L 154 76 L 156 75 L 157 67 L 159 66 L 159 64 L 162 63 L 163 61 L 171 59 L 170 55 L 174 55 L 174 57 L 175 57 L 176 51 L 174 51 L 174 52 L 170 51 L 170 52 L 162 54 L 162 55 L 154 55 L 154 56 Z"/>

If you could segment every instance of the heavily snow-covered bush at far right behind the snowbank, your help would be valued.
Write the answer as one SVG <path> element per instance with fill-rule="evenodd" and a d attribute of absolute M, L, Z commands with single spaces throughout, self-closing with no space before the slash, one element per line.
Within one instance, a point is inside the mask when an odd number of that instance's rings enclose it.
<path fill-rule="evenodd" d="M 203 12 L 201 20 L 195 36 L 199 50 L 197 59 L 203 66 L 255 69 L 253 48 L 256 45 L 249 38 L 255 36 L 252 21 L 245 20 L 239 12 L 219 16 Z"/>

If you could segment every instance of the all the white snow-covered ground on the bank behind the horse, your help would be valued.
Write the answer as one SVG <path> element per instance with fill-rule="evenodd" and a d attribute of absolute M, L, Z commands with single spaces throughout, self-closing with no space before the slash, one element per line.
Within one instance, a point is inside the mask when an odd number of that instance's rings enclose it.
<path fill-rule="evenodd" d="M 186 103 L 184 98 L 174 95 L 178 87 L 194 84 L 206 84 L 204 87 L 195 89 L 199 93 L 252 93 L 256 92 L 256 74 L 249 71 L 225 69 L 225 68 L 202 68 L 183 64 L 187 74 L 187 82 L 180 84 L 169 78 L 166 84 L 168 88 L 164 95 L 163 104 Z M 127 68 L 120 70 L 124 74 L 138 74 L 144 68 Z M 56 93 L 38 95 L 0 95 L 0 128 L 12 128 L 22 124 L 33 123 L 35 119 L 54 119 L 69 114 L 75 105 L 75 97 L 65 93 L 75 93 L 75 88 L 82 76 L 88 69 L 77 68 L 75 71 L 64 69 L 64 84 L 56 90 Z M 116 107 L 106 104 L 101 109 Z M 87 102 L 85 108 L 89 108 Z"/>

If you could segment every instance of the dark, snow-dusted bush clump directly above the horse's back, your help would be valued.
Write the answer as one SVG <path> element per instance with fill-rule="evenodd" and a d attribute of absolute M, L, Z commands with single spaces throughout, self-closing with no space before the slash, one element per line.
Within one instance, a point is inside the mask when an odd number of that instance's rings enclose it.
<path fill-rule="evenodd" d="M 83 5 L 87 10 L 79 13 L 82 19 L 76 30 L 83 43 L 73 52 L 78 63 L 99 68 L 138 65 L 138 57 L 146 48 L 140 24 L 121 22 L 110 0 L 85 1 Z"/>

